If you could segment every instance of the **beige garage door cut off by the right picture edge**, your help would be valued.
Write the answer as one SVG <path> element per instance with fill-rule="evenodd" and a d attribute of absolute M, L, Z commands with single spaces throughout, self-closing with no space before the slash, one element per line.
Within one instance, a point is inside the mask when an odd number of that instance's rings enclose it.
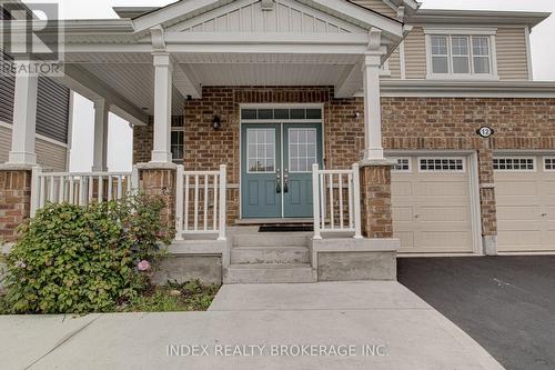
<path fill-rule="evenodd" d="M 497 250 L 555 250 L 555 156 L 496 156 Z"/>

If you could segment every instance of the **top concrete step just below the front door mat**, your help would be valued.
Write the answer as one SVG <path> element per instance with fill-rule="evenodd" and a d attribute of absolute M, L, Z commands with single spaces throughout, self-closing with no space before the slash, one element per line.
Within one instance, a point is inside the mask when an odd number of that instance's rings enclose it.
<path fill-rule="evenodd" d="M 307 247 L 312 232 L 256 232 L 233 236 L 233 247 Z"/>

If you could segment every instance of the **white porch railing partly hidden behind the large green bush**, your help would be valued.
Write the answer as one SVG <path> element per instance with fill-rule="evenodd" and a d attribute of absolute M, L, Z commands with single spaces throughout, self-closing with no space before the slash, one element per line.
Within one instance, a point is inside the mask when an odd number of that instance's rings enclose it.
<path fill-rule="evenodd" d="M 137 189 L 139 173 L 133 172 L 43 172 L 32 170 L 31 217 L 47 202 L 85 206 L 92 201 L 118 200 Z"/>

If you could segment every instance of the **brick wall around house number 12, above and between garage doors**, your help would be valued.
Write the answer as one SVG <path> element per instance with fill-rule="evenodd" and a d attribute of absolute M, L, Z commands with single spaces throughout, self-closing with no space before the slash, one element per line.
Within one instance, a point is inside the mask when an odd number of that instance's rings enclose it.
<path fill-rule="evenodd" d="M 383 98 L 382 112 L 386 149 L 477 151 L 484 236 L 497 233 L 493 151 L 555 149 L 555 99 Z"/>

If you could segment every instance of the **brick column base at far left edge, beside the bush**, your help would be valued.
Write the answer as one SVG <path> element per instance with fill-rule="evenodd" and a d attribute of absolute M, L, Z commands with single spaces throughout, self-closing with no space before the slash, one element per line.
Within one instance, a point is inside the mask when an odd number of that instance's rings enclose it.
<path fill-rule="evenodd" d="M 31 178 L 29 166 L 0 166 L 0 241 L 16 241 L 16 229 L 31 214 Z"/>

